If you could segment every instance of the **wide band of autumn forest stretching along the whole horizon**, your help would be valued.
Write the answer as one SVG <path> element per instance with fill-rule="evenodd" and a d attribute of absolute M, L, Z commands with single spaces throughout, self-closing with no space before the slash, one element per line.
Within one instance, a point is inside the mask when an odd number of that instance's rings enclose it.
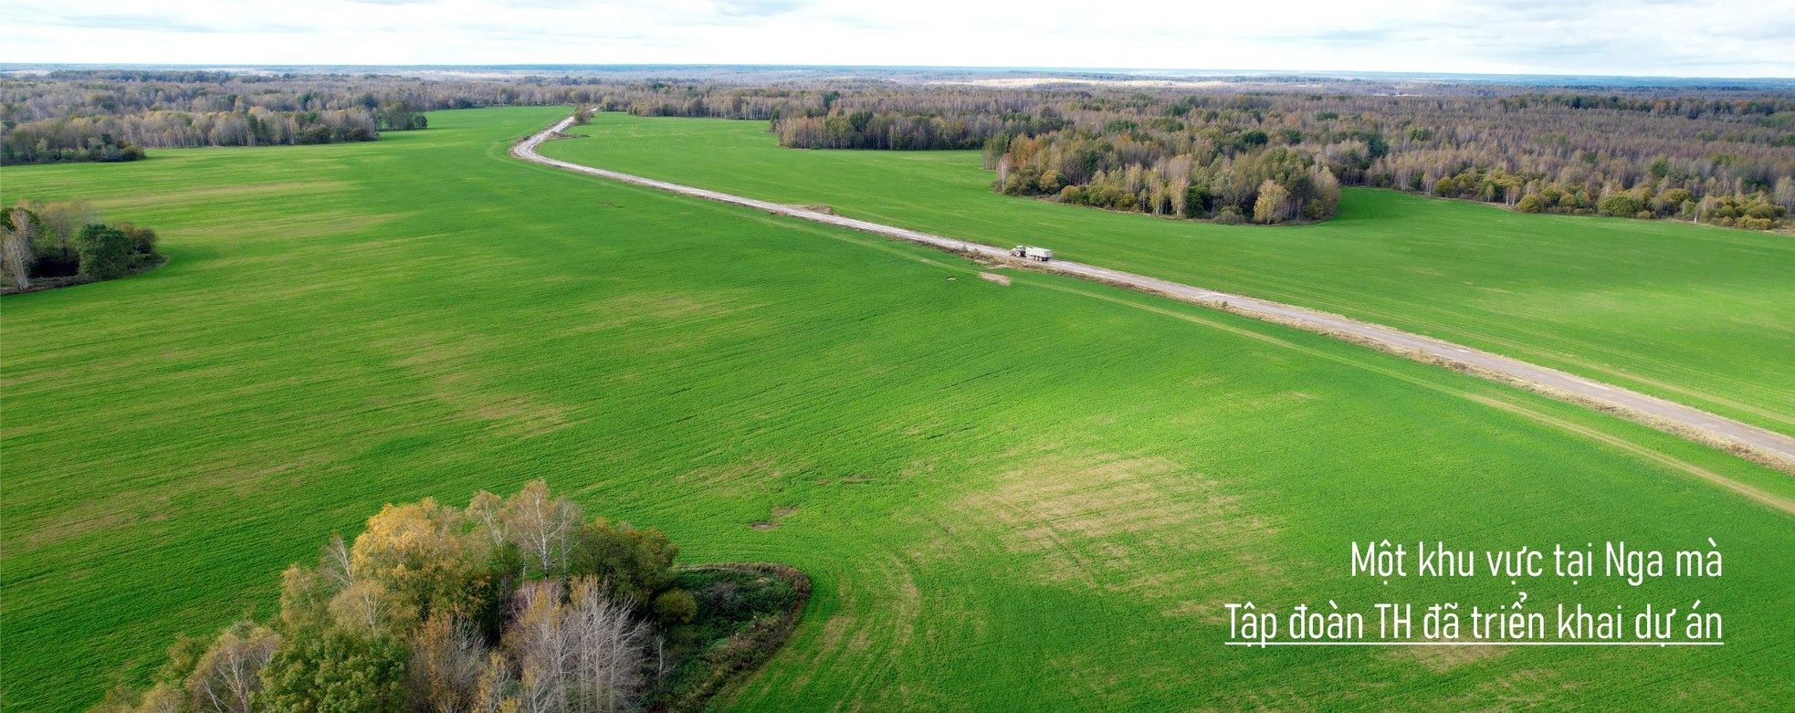
<path fill-rule="evenodd" d="M 976 149 L 1003 194 L 1219 223 L 1327 219 L 1341 185 L 1370 185 L 1522 212 L 1795 224 L 1795 95 L 1729 88 L 90 70 L 0 79 L 0 160 L 375 140 L 424 128 L 422 111 L 517 104 L 765 120 L 802 149 Z"/>

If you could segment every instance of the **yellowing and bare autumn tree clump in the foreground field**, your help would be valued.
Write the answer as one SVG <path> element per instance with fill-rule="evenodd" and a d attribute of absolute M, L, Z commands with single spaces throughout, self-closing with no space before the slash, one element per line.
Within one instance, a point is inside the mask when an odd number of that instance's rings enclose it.
<path fill-rule="evenodd" d="M 750 659 L 731 645 L 765 641 L 693 634 L 700 602 L 680 584 L 698 580 L 673 569 L 677 555 L 662 532 L 589 521 L 542 481 L 512 497 L 481 492 L 465 508 L 388 505 L 354 544 L 336 537 L 316 566 L 282 575 L 278 616 L 237 621 L 212 641 L 181 638 L 153 688 L 117 690 L 97 711 L 603 713 L 641 709 L 650 695 L 693 702 L 716 673 L 657 693 L 673 648 L 704 645 L 704 663 L 741 666 Z M 736 582 L 713 578 L 698 591 L 704 607 L 795 616 L 790 587 L 745 603 Z"/>

